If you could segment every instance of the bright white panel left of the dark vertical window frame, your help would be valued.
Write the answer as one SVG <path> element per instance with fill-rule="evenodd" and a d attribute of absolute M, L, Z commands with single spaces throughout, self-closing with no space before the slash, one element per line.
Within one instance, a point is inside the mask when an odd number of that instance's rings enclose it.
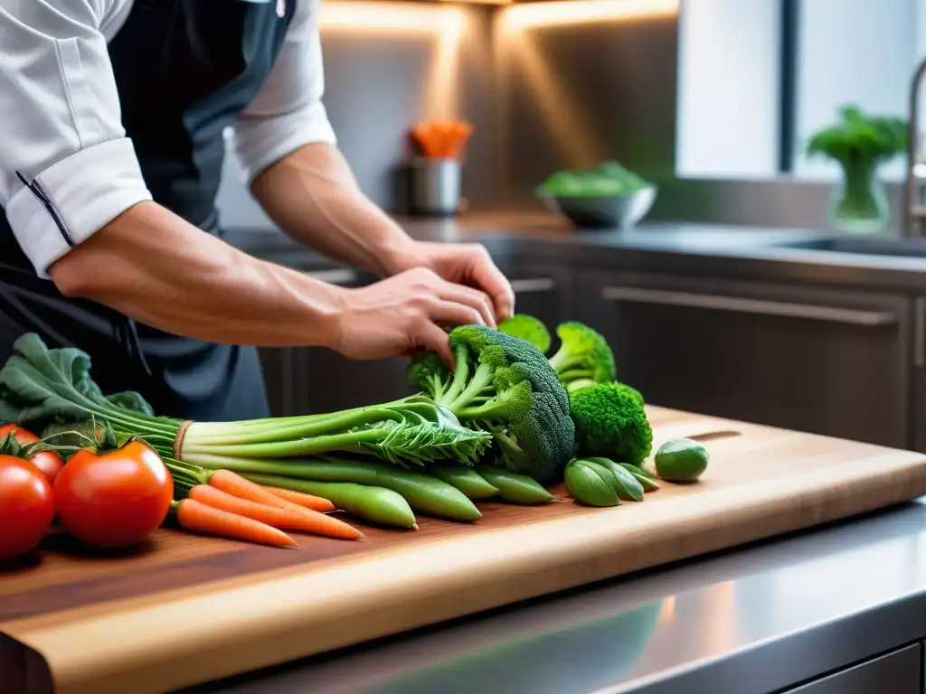
<path fill-rule="evenodd" d="M 683 178 L 775 175 L 780 0 L 682 0 L 679 21 L 676 172 Z"/>

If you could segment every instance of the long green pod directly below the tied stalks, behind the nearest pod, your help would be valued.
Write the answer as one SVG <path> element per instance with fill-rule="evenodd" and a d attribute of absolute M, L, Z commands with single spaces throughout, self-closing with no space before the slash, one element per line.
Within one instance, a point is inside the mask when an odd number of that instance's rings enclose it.
<path fill-rule="evenodd" d="M 369 487 L 385 487 L 401 494 L 409 506 L 423 514 L 457 521 L 474 521 L 482 517 L 473 502 L 456 487 L 437 477 L 410 472 L 398 465 L 357 461 L 333 455 L 320 455 L 311 459 L 266 460 L 195 453 L 187 458 L 194 465 L 225 468 L 237 473 L 266 473 L 319 482 L 354 482 Z"/>

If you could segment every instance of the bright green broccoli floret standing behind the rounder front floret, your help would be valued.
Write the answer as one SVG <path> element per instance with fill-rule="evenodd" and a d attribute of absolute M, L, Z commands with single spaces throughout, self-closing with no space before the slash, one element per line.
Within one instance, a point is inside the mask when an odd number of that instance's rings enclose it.
<path fill-rule="evenodd" d="M 562 344 L 550 357 L 550 366 L 570 393 L 617 378 L 614 353 L 603 335 L 576 321 L 560 323 L 557 335 Z"/>

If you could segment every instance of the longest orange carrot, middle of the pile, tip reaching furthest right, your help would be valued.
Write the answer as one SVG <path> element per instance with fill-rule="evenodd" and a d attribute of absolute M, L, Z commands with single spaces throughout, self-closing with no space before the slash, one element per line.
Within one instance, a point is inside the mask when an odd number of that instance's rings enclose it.
<path fill-rule="evenodd" d="M 227 511 L 230 514 L 244 515 L 270 527 L 281 530 L 301 530 L 315 535 L 327 535 L 339 539 L 361 539 L 363 533 L 344 521 L 330 515 L 319 514 L 299 507 L 298 511 L 277 508 L 263 503 L 249 502 L 224 491 L 204 484 L 196 485 L 189 492 L 189 498 L 205 503 L 206 506 Z"/>

